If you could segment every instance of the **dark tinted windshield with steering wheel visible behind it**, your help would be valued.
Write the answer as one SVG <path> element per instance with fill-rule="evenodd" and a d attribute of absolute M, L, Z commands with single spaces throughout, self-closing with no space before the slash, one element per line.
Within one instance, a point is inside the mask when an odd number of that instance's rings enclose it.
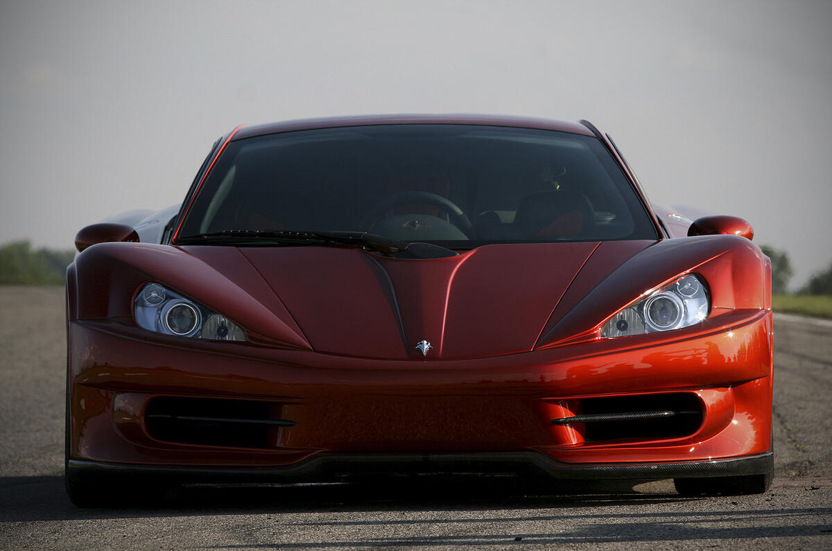
<path fill-rule="evenodd" d="M 179 236 L 221 231 L 358 231 L 455 249 L 657 236 L 596 138 L 436 124 L 231 141 Z"/>

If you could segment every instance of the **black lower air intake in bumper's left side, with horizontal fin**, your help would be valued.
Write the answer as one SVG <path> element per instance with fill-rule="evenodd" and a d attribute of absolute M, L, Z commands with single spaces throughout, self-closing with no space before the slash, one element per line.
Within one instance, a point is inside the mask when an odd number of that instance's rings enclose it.
<path fill-rule="evenodd" d="M 159 397 L 147 405 L 145 425 L 152 438 L 181 444 L 272 448 L 281 427 L 283 404 L 260 400 Z"/>

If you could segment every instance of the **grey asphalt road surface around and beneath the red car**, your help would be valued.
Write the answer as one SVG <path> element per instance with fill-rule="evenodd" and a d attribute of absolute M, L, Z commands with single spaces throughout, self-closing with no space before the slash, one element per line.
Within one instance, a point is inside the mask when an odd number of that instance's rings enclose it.
<path fill-rule="evenodd" d="M 832 322 L 775 316 L 775 482 L 681 498 L 670 481 L 527 489 L 180 490 L 77 509 L 63 490 L 63 290 L 0 287 L 0 548 L 832 548 Z"/>

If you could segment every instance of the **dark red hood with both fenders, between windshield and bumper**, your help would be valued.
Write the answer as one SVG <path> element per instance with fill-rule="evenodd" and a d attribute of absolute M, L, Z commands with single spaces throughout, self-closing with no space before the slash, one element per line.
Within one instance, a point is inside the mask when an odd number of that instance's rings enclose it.
<path fill-rule="evenodd" d="M 255 342 L 323 354 L 463 360 L 597 338 L 610 315 L 696 271 L 711 316 L 770 308 L 767 257 L 740 236 L 480 246 L 400 259 L 341 246 L 101 243 L 67 270 L 69 320 L 131 324 L 156 281 L 241 325 Z M 417 349 L 426 340 L 427 355 Z"/>

